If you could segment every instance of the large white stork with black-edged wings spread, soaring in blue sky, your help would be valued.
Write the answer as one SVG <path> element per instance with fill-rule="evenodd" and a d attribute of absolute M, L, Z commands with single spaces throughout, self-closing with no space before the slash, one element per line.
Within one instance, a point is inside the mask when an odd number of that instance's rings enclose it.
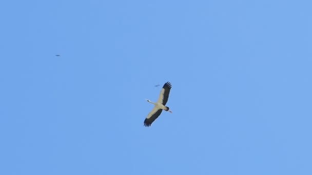
<path fill-rule="evenodd" d="M 162 90 L 160 91 L 160 95 L 156 103 L 153 103 L 148 99 L 145 99 L 146 101 L 155 105 L 153 110 L 147 115 L 146 119 L 144 120 L 145 127 L 149 127 L 152 124 L 152 122 L 155 121 L 160 116 L 163 110 L 169 113 L 172 113 L 172 111 L 169 110 L 169 107 L 166 106 L 166 103 L 169 98 L 170 90 L 171 90 L 171 83 L 166 82 Z"/>

